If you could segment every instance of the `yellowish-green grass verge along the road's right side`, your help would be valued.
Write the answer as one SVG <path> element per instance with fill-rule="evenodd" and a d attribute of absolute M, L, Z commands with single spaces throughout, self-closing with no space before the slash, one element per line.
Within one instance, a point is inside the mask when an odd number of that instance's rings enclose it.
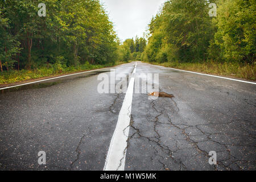
<path fill-rule="evenodd" d="M 147 62 L 148 63 L 148 62 Z M 256 65 L 238 64 L 238 63 L 214 63 L 213 61 L 205 63 L 178 63 L 166 62 L 150 64 L 161 65 L 163 67 L 184 69 L 186 71 L 203 72 L 207 74 L 214 74 L 220 76 L 234 76 L 238 78 L 245 78 L 247 80 L 256 80 Z"/>

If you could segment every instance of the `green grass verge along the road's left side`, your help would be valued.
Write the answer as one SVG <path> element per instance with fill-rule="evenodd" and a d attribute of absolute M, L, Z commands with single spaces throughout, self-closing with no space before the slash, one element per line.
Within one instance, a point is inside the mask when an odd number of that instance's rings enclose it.
<path fill-rule="evenodd" d="M 74 73 L 80 71 L 90 71 L 92 69 L 100 69 L 106 67 L 113 67 L 115 65 L 124 64 L 127 62 L 117 61 L 114 64 L 105 64 L 105 65 L 92 65 L 86 62 L 85 64 L 78 65 L 76 67 L 65 67 L 61 64 L 48 64 L 43 67 L 26 70 L 22 69 L 20 71 L 11 70 L 0 72 L 0 84 L 10 84 L 14 82 L 27 81 L 35 78 L 49 77 L 49 76 L 58 76 L 64 75 L 67 73 Z"/>

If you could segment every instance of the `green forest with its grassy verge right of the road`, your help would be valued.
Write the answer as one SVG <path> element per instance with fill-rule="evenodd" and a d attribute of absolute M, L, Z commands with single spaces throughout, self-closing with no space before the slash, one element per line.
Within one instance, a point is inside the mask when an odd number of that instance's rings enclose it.
<path fill-rule="evenodd" d="M 255 80 L 255 9 L 255 0 L 167 1 L 148 25 L 141 60 Z"/>

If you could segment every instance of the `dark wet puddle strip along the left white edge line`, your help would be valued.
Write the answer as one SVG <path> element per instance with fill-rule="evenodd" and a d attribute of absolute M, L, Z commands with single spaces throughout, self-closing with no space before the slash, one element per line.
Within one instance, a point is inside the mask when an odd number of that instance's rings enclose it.
<path fill-rule="evenodd" d="M 51 81 L 42 81 L 38 82 L 35 84 L 28 84 L 28 85 L 23 85 L 23 86 L 16 86 L 13 88 L 9 89 L 3 89 L 0 90 L 0 95 L 8 92 L 16 92 L 20 90 L 28 90 L 28 89 L 40 89 L 40 88 L 47 88 L 49 86 L 61 84 L 63 82 L 68 82 L 76 79 L 81 79 L 81 78 L 86 78 L 86 77 L 91 77 L 94 75 L 99 75 L 100 73 L 105 73 L 105 72 L 110 72 L 110 71 L 95 71 L 95 72 L 89 72 L 89 73 L 82 73 L 81 75 L 74 75 L 74 76 L 67 76 L 63 78 L 56 78 Z M 84 76 L 82 76 L 84 75 Z"/>

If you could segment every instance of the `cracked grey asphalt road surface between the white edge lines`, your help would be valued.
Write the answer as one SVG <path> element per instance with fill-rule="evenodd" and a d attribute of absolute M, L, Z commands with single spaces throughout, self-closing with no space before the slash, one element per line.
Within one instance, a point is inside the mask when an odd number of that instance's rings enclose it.
<path fill-rule="evenodd" d="M 110 68 L 0 90 L 0 169 L 104 169 L 125 93 L 98 93 L 100 73 Z M 125 170 L 255 170 L 256 85 L 140 62 L 136 73 L 159 73 L 175 97 L 133 93 Z"/>

